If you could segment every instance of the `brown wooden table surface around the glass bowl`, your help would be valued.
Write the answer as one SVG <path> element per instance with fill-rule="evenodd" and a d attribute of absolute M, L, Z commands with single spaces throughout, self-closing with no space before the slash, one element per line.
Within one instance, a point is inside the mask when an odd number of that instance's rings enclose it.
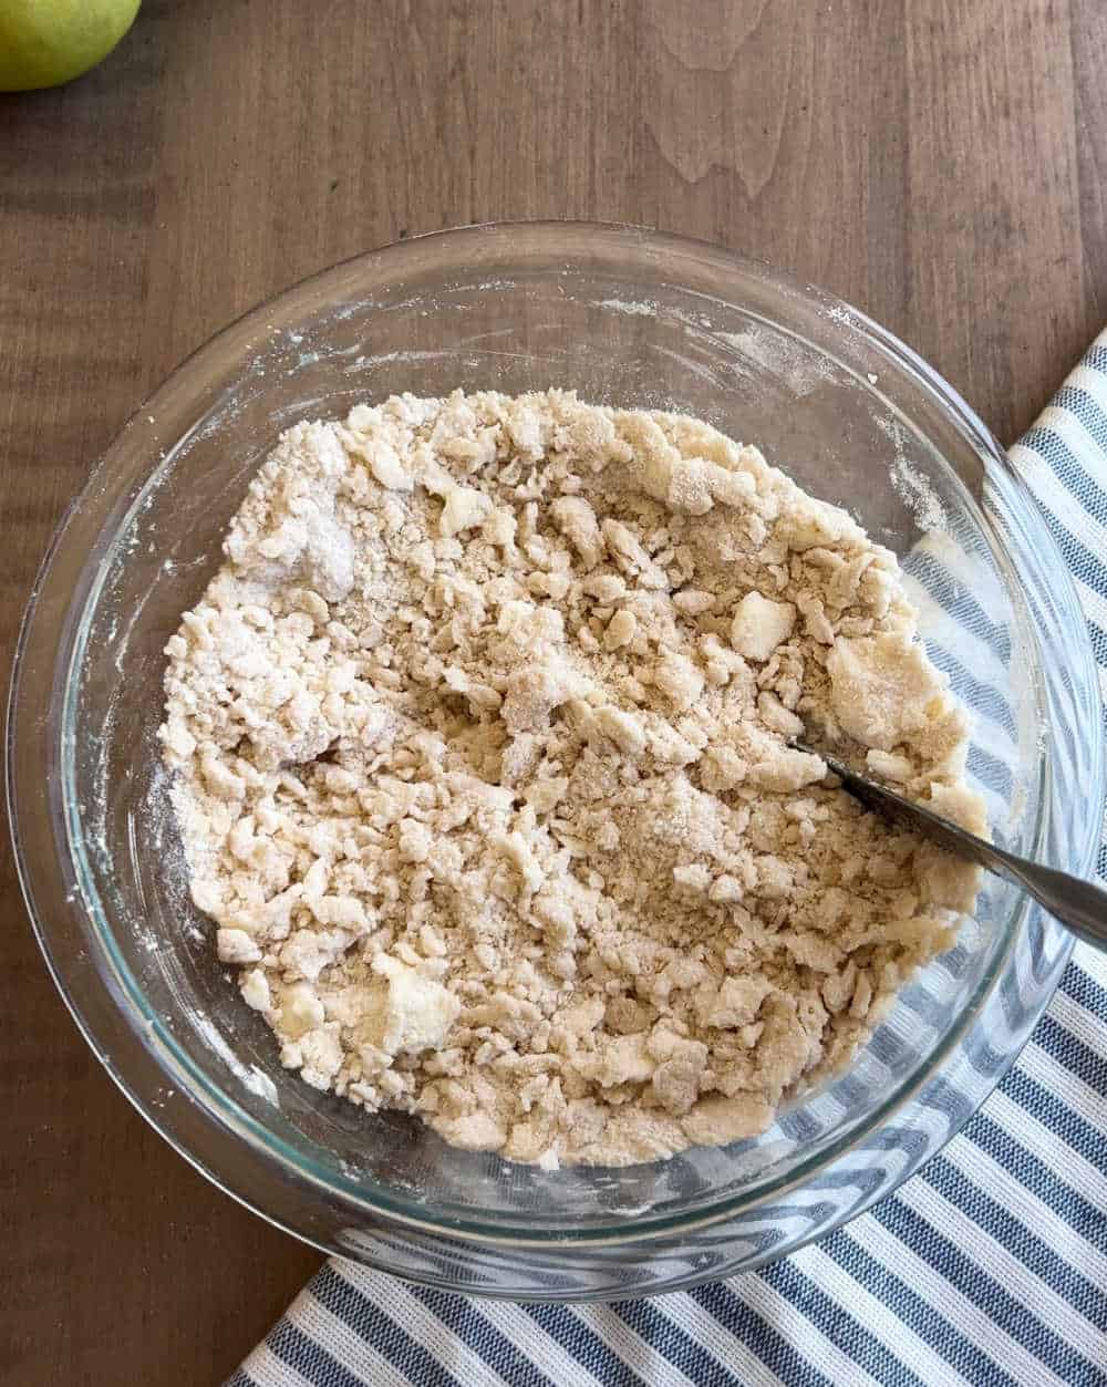
<path fill-rule="evenodd" d="M 62 508 L 266 294 L 461 222 L 707 237 L 885 323 L 1000 438 L 1107 311 L 1101 0 L 146 0 L 0 96 L 0 666 Z M 54 993 L 0 845 L 0 1380 L 214 1384 L 318 1257 L 196 1175 Z"/>

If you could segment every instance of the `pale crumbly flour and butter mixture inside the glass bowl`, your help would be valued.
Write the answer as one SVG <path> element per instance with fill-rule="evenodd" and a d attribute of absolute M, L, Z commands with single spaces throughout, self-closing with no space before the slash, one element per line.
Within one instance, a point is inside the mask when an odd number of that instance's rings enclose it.
<path fill-rule="evenodd" d="M 168 644 L 197 906 L 284 1065 L 515 1161 L 748 1137 L 953 942 L 982 831 L 896 560 L 709 424 L 548 391 L 284 433 Z"/>

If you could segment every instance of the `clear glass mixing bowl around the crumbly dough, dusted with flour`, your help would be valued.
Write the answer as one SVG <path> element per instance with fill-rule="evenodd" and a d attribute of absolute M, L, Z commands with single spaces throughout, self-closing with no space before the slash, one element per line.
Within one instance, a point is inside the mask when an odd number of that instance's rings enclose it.
<path fill-rule="evenodd" d="M 277 1062 L 189 900 L 155 731 L 162 648 L 277 433 L 355 401 L 545 386 L 687 411 L 757 442 L 895 549 L 974 714 L 996 838 L 1074 872 L 1103 752 L 1064 565 L 986 429 L 917 356 L 763 265 L 633 227 L 469 227 L 362 255 L 233 323 L 119 434 L 22 631 L 8 721 L 19 870 L 43 951 L 146 1118 L 244 1204 L 373 1266 L 469 1293 L 626 1297 L 757 1266 L 893 1190 L 1013 1061 L 1068 956 L 989 881 L 956 949 L 856 1064 L 764 1136 L 545 1172 L 366 1115 Z"/>

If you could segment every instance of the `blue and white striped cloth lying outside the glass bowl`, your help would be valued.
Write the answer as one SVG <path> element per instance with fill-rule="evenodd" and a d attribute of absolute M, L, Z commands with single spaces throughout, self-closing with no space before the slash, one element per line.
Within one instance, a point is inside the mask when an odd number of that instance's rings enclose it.
<path fill-rule="evenodd" d="M 1011 449 L 1107 692 L 1107 331 Z M 1100 854 L 1107 877 L 1107 849 Z M 332 1259 L 229 1387 L 1107 1387 L 1107 960 L 900 1190 L 812 1247 L 652 1301 L 465 1300 Z"/>

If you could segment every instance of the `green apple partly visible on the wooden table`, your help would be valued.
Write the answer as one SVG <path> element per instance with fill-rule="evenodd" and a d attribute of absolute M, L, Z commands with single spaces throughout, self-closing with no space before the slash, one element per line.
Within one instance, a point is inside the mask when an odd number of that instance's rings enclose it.
<path fill-rule="evenodd" d="M 58 86 L 122 39 L 140 0 L 0 0 L 0 92 Z"/>

